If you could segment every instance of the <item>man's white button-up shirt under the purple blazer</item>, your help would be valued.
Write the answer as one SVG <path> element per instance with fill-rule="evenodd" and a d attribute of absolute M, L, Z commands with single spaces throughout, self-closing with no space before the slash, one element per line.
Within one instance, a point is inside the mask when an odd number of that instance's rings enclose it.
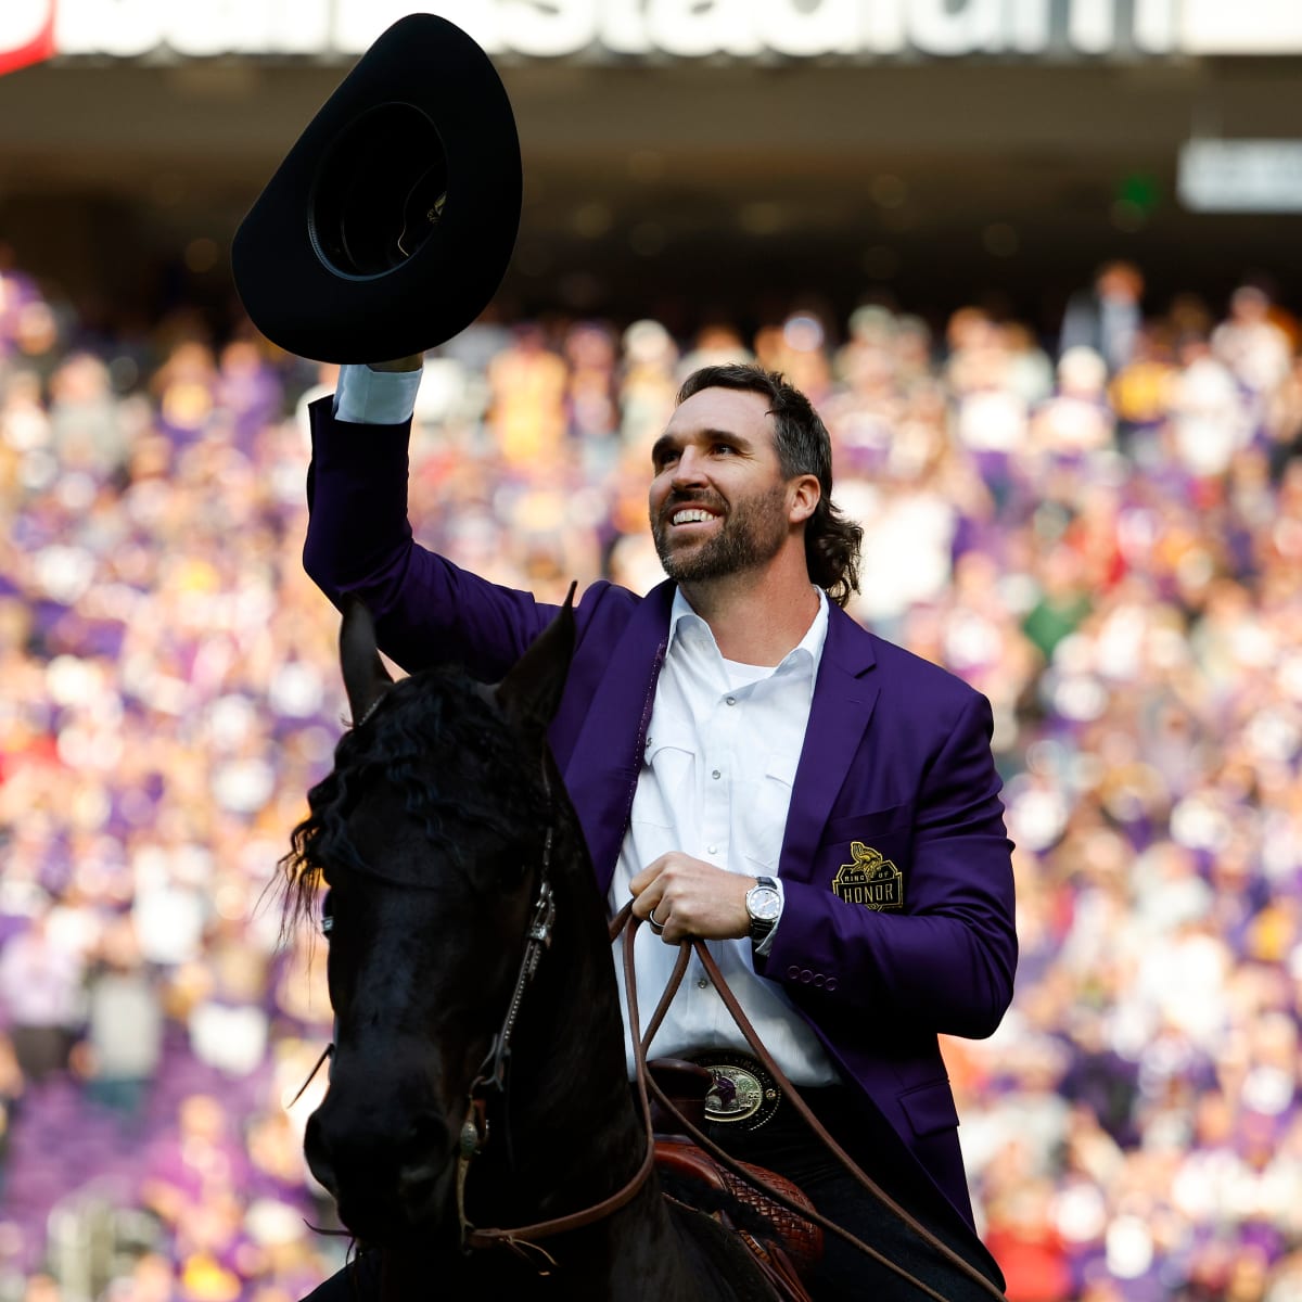
<path fill-rule="evenodd" d="M 612 909 L 628 901 L 633 878 L 671 850 L 743 876 L 771 876 L 781 889 L 777 861 L 827 639 L 827 596 L 822 590 L 818 594 L 814 622 L 776 668 L 725 660 L 710 625 L 681 591 L 674 595 L 642 772 L 611 880 Z M 792 1081 L 811 1086 L 836 1081 L 822 1043 L 781 986 L 755 974 L 751 941 L 708 944 L 766 1048 Z M 616 974 L 621 1000 L 622 945 L 620 937 Z M 643 1029 L 677 957 L 677 945 L 667 945 L 650 927 L 639 928 L 634 958 Z M 710 1048 L 751 1052 L 693 956 L 648 1057 L 681 1057 L 685 1051 Z M 626 1053 L 631 1074 L 631 1039 Z"/>

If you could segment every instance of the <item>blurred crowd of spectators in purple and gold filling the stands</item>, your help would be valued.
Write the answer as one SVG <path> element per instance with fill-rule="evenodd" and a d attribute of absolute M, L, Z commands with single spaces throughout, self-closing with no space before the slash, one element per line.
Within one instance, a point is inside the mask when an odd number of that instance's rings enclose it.
<path fill-rule="evenodd" d="M 1009 1298 L 1302 1299 L 1297 323 L 1118 264 L 1052 339 L 880 303 L 747 333 L 471 327 L 426 361 L 418 536 L 646 590 L 678 381 L 786 372 L 865 527 L 853 613 L 995 710 L 1018 990 L 945 1053 Z M 285 1302 L 344 1259 L 299 1151 L 322 947 L 268 889 L 345 713 L 299 565 L 331 383 L 0 272 L 0 1302 Z"/>

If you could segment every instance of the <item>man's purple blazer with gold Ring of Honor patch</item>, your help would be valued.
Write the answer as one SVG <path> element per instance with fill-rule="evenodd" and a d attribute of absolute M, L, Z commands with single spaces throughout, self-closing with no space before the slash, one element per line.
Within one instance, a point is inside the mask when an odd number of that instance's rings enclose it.
<path fill-rule="evenodd" d="M 411 672 L 460 661 L 501 678 L 556 607 L 413 542 L 408 427 L 340 424 L 314 404 L 307 573 L 365 598 Z M 641 769 L 673 585 L 607 582 L 577 607 L 551 743 L 604 892 Z M 971 1225 L 937 1032 L 990 1035 L 1013 995 L 1012 842 L 990 703 L 831 608 L 783 842 L 786 906 L 758 970 L 780 982 L 846 1079 Z"/>

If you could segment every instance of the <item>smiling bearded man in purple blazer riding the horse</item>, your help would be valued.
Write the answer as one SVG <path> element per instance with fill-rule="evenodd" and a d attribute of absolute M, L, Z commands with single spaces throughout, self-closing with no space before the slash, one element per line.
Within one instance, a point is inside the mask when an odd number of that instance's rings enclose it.
<path fill-rule="evenodd" d="M 553 613 L 421 548 L 405 513 L 421 357 L 345 366 L 312 406 L 305 566 L 363 599 L 409 671 L 501 677 Z M 756 367 L 687 379 L 652 449 L 668 581 L 594 583 L 549 740 L 612 911 L 633 897 L 654 1008 L 678 943 L 711 953 L 773 1062 L 885 1191 L 1001 1285 L 973 1221 L 937 1034 L 990 1035 L 1017 941 L 983 697 L 862 629 L 859 529 L 827 430 Z M 643 1017 L 644 1019 L 644 1017 Z M 822 1150 L 689 969 L 652 1046 L 716 1078 L 710 1134 L 948 1298 L 986 1297 Z M 630 1049 L 631 1052 L 631 1049 Z M 829 1240 L 816 1298 L 917 1295 Z"/>

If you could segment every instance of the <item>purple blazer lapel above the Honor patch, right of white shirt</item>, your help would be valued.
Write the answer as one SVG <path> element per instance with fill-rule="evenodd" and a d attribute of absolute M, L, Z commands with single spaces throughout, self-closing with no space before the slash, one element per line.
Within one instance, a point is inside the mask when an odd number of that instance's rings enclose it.
<path fill-rule="evenodd" d="M 810 880 L 814 852 L 832 803 L 872 717 L 878 685 L 867 674 L 875 664 L 872 638 L 840 607 L 831 605 L 827 642 L 786 815 L 779 861 L 784 878 Z"/>

